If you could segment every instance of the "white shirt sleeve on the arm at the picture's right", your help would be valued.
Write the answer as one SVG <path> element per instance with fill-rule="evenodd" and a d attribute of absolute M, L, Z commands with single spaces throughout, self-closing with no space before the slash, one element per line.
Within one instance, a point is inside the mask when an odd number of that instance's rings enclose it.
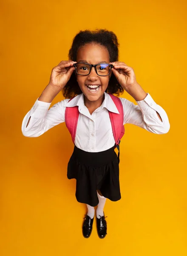
<path fill-rule="evenodd" d="M 155 134 L 166 134 L 170 130 L 167 113 L 156 104 L 149 93 L 147 93 L 145 99 L 136 101 L 138 105 L 124 98 L 120 98 L 120 100 L 124 109 L 124 125 L 133 124 Z"/>

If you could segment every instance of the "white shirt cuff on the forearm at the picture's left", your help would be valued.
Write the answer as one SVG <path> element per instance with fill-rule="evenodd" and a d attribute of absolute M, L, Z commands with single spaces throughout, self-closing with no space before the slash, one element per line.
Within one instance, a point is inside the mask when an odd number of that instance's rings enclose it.
<path fill-rule="evenodd" d="M 42 102 L 40 100 L 35 101 L 33 107 L 31 108 L 30 116 L 36 117 L 36 118 L 43 118 L 45 114 L 48 111 L 49 106 L 51 103 L 49 102 Z"/>

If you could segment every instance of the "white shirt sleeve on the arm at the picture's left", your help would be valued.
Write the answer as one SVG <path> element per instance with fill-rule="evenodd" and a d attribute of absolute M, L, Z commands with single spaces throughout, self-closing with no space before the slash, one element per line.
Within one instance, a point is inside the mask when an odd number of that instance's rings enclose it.
<path fill-rule="evenodd" d="M 65 122 L 65 108 L 63 108 L 63 105 L 67 100 L 54 104 L 48 110 L 51 103 L 42 102 L 38 99 L 23 118 L 21 130 L 26 137 L 38 137 L 55 125 Z M 26 127 L 30 116 L 30 122 Z"/>

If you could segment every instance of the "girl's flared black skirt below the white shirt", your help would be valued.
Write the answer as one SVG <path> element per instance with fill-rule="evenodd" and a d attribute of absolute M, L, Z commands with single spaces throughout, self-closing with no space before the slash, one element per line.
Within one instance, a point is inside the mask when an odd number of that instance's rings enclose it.
<path fill-rule="evenodd" d="M 119 157 L 114 147 L 101 152 L 87 152 L 74 146 L 68 163 L 68 179 L 76 179 L 77 201 L 91 206 L 99 204 L 96 190 L 111 201 L 121 199 Z"/>

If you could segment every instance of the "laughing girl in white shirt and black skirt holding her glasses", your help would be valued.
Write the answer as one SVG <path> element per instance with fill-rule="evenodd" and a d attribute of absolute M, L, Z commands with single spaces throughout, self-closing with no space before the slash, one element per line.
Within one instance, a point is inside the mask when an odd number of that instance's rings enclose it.
<path fill-rule="evenodd" d="M 137 83 L 133 68 L 118 61 L 118 47 L 118 39 L 111 31 L 80 31 L 69 50 L 69 61 L 60 61 L 52 69 L 49 84 L 22 123 L 24 136 L 38 137 L 70 120 L 72 115 L 65 116 L 66 109 L 78 109 L 74 152 L 67 176 L 77 180 L 77 201 L 88 207 L 82 226 L 85 238 L 92 232 L 95 206 L 98 236 L 106 236 L 103 211 L 106 198 L 111 201 L 121 198 L 119 156 L 114 151 L 116 143 L 109 113 L 118 116 L 123 112 L 122 126 L 131 123 L 155 134 L 165 134 L 170 129 L 166 112 Z M 48 109 L 61 90 L 65 100 Z M 138 105 L 117 98 L 122 104 L 121 112 L 111 94 L 119 96 L 124 90 Z"/>

